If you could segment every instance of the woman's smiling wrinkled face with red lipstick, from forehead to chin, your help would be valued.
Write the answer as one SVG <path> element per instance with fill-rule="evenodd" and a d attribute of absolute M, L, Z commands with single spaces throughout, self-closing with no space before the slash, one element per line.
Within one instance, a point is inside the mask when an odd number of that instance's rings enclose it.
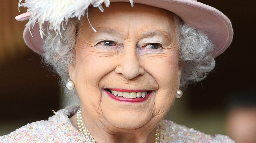
<path fill-rule="evenodd" d="M 103 13 L 89 8 L 88 15 L 97 32 L 85 22 L 69 68 L 85 124 L 152 130 L 179 87 L 173 15 L 129 3 L 111 3 Z"/>

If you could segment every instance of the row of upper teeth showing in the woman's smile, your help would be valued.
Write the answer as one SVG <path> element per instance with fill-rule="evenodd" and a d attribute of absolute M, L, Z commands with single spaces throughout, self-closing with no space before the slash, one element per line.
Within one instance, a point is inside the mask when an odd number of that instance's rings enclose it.
<path fill-rule="evenodd" d="M 110 90 L 111 93 L 115 96 L 124 97 L 124 98 L 145 98 L 147 92 L 120 92 L 116 90 Z"/>

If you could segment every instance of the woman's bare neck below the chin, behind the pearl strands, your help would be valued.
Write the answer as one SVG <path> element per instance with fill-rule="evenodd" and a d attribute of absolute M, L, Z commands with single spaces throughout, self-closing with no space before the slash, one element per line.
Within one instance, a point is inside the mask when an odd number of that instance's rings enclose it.
<path fill-rule="evenodd" d="M 96 142 L 155 142 L 156 127 L 144 125 L 139 129 L 119 129 L 104 121 L 92 121 L 82 114 L 83 121 Z M 76 114 L 70 118 L 74 127 L 79 131 Z M 153 128 L 152 128 L 153 127 Z"/>

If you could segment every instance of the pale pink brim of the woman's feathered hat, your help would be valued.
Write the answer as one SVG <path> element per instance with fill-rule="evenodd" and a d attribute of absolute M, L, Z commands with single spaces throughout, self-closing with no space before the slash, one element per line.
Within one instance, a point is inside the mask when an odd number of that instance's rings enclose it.
<path fill-rule="evenodd" d="M 128 2 L 128 0 L 110 0 L 111 2 Z M 133 0 L 134 3 L 150 5 L 163 8 L 177 14 L 188 24 L 197 29 L 203 30 L 209 35 L 216 48 L 213 51 L 213 57 L 222 54 L 233 39 L 233 29 L 230 20 L 218 9 L 195 0 Z M 111 4 L 110 4 L 111 7 Z M 24 14 L 24 17 L 28 14 Z M 17 20 L 24 20 L 19 16 Z M 26 18 L 25 18 L 26 19 Z M 44 24 L 46 29 L 47 22 Z M 31 29 L 27 26 L 24 30 L 23 37 L 26 44 L 36 53 L 42 54 L 42 39 L 39 33 L 39 26 L 35 24 Z"/>

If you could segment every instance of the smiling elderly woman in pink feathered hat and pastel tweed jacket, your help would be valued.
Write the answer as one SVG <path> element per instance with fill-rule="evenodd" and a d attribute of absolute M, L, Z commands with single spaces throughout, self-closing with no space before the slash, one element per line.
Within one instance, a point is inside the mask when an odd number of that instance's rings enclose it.
<path fill-rule="evenodd" d="M 20 6 L 29 11 L 16 17 L 29 19 L 26 44 L 54 66 L 80 106 L 0 142 L 232 142 L 163 120 L 180 89 L 202 80 L 232 41 L 231 23 L 217 9 L 196 0 L 25 0 Z"/>

